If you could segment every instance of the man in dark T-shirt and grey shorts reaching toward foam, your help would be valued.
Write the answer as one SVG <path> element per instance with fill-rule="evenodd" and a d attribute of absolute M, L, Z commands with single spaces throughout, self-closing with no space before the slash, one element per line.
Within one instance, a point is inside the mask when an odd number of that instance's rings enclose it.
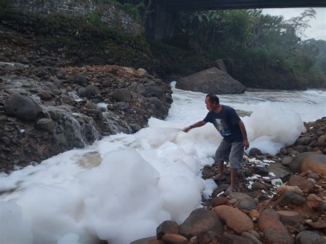
<path fill-rule="evenodd" d="M 204 126 L 207 122 L 214 124 L 215 128 L 221 136 L 224 137 L 219 148 L 215 153 L 215 162 L 219 167 L 219 173 L 213 177 L 215 181 L 225 181 L 224 176 L 224 161 L 230 161 L 231 165 L 231 184 L 226 190 L 226 195 L 235 191 L 235 179 L 237 170 L 241 168 L 243 148 L 248 149 L 249 142 L 247 138 L 246 127 L 237 115 L 235 109 L 226 105 L 219 104 L 219 98 L 209 93 L 205 99 L 208 113 L 204 120 L 196 122 L 184 129 L 184 132 Z"/>

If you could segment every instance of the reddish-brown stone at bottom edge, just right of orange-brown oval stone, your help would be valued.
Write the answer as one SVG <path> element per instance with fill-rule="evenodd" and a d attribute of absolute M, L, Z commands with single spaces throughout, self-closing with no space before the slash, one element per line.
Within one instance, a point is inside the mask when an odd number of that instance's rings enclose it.
<path fill-rule="evenodd" d="M 258 221 L 265 243 L 292 244 L 294 239 L 280 221 L 279 214 L 272 209 L 263 210 Z"/>

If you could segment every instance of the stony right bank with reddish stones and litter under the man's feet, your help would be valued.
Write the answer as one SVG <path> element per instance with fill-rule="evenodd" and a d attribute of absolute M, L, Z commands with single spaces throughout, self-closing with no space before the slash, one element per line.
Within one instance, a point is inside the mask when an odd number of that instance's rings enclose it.
<path fill-rule="evenodd" d="M 238 173 L 238 192 L 225 196 L 229 182 L 218 184 L 184 223 L 164 221 L 156 236 L 133 244 L 326 243 L 326 118 L 305 126 L 307 133 L 279 155 L 252 148 Z M 202 177 L 217 171 L 215 164 L 204 166 Z M 225 174 L 230 177 L 230 168 Z"/>

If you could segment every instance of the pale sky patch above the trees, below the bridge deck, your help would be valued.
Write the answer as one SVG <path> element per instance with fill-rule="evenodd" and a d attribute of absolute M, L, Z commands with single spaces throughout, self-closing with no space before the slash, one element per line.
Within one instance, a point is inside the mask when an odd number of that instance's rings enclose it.
<path fill-rule="evenodd" d="M 290 19 L 300 14 L 308 8 L 265 8 L 264 14 L 283 15 L 284 19 Z M 305 30 L 306 36 L 301 36 L 303 40 L 315 38 L 316 40 L 326 40 L 326 8 L 314 8 L 316 19 L 310 19 L 310 28 Z"/>

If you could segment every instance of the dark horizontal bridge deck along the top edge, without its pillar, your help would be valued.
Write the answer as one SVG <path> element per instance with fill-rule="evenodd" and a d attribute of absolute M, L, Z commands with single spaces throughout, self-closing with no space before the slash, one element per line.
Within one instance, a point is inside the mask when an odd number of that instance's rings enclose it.
<path fill-rule="evenodd" d="M 165 0 L 160 1 L 160 4 L 164 5 L 170 11 L 326 7 L 325 0 Z"/>

